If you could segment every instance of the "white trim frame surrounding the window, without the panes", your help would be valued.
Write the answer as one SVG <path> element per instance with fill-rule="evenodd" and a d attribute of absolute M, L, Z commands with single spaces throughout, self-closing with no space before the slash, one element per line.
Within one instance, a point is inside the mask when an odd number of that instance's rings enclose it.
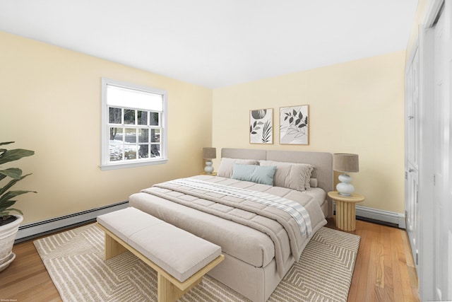
<path fill-rule="evenodd" d="M 143 160 L 143 161 L 133 161 L 131 163 L 127 162 L 121 162 L 121 163 L 109 163 L 109 129 L 108 129 L 108 105 L 107 105 L 107 85 L 114 85 L 114 86 L 120 86 L 124 88 L 132 88 L 136 90 L 141 91 L 148 91 L 151 93 L 158 93 L 163 96 L 163 113 L 161 115 L 162 119 L 162 132 L 163 135 L 160 138 L 161 144 L 160 144 L 160 154 L 161 158 L 158 159 L 150 159 L 150 160 Z M 101 108 L 101 129 L 102 129 L 102 136 L 101 136 L 101 158 L 100 158 L 100 169 L 101 170 L 114 170 L 114 169 L 121 169 L 121 168 L 133 168 L 133 167 L 140 167 L 143 165 L 159 165 L 162 163 L 167 163 L 168 161 L 168 129 L 167 129 L 167 120 L 168 120 L 168 93 L 167 91 L 152 88 L 149 86 L 141 86 L 133 83 L 126 83 L 123 81 L 117 81 L 113 79 L 107 79 L 102 78 L 102 108 Z"/>

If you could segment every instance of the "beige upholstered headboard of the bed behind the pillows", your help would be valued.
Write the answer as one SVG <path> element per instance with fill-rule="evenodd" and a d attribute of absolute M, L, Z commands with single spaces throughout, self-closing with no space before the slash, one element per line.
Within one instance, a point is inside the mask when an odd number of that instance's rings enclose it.
<path fill-rule="evenodd" d="M 315 166 L 311 177 L 317 179 L 318 187 L 327 193 L 333 191 L 333 154 L 328 152 L 223 148 L 221 157 L 310 163 Z M 331 216 L 333 215 L 333 202 L 329 197 L 327 199 L 328 216 Z"/>

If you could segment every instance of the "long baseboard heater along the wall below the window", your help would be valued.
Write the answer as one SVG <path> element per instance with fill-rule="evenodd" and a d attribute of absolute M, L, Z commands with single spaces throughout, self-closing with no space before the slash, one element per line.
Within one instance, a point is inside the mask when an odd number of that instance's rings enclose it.
<path fill-rule="evenodd" d="M 95 221 L 96 217 L 99 215 L 107 214 L 119 209 L 125 209 L 126 207 L 129 207 L 129 201 L 117 202 L 116 204 L 109 204 L 105 207 L 98 207 L 74 214 L 24 224 L 23 226 L 19 226 L 15 243 L 30 240 L 37 236 L 42 236 L 46 233 L 52 233 L 71 226 L 77 226 L 78 224 Z"/>

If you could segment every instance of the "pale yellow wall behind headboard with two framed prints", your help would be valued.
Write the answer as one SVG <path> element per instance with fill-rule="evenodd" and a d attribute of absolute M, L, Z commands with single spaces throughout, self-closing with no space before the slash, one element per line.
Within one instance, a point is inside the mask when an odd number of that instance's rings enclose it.
<path fill-rule="evenodd" d="M 404 68 L 400 51 L 215 89 L 213 146 L 357 153 L 361 205 L 404 213 Z M 279 144 L 279 108 L 292 105 L 309 105 L 309 146 Z M 274 109 L 272 145 L 249 144 L 261 108 Z"/>

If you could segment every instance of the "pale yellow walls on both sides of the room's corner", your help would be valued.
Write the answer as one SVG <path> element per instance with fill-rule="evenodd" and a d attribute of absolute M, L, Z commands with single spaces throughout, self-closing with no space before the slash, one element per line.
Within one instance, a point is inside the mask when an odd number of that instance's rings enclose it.
<path fill-rule="evenodd" d="M 208 88 L 0 32 L 0 141 L 35 156 L 16 190 L 24 223 L 126 200 L 155 182 L 198 173 L 203 146 L 359 154 L 356 191 L 366 207 L 403 213 L 405 52 Z M 165 89 L 169 161 L 102 171 L 100 79 Z M 309 105 L 309 146 L 280 145 L 279 108 Z M 274 144 L 249 144 L 249 110 L 274 109 Z M 218 169 L 219 159 L 214 161 Z M 11 166 L 15 166 L 11 164 Z M 5 165 L 6 168 L 6 165 Z"/>

